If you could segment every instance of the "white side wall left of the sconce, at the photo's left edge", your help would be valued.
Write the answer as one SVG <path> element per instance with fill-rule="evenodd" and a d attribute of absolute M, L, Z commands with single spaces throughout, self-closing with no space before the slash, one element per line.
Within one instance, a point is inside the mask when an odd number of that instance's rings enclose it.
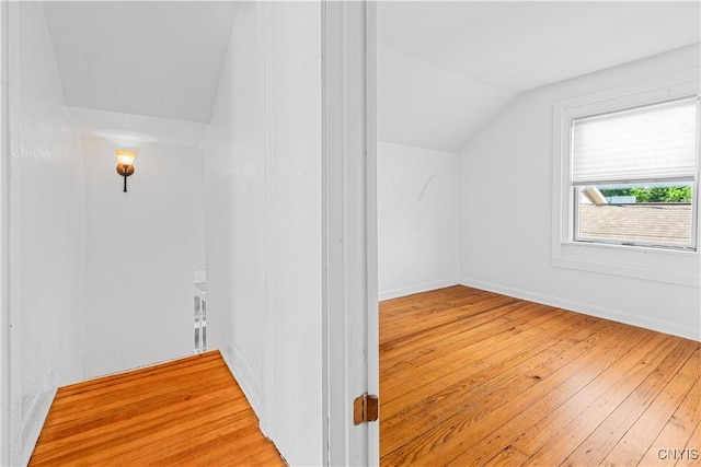
<path fill-rule="evenodd" d="M 3 459 L 23 465 L 56 387 L 83 375 L 81 147 L 42 3 L 10 3 L 9 78 L 11 453 Z"/>

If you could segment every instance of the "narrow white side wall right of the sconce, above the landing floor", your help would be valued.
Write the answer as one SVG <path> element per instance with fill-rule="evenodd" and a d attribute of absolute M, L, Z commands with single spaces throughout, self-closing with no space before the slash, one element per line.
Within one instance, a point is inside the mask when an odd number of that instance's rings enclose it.
<path fill-rule="evenodd" d="M 206 135 L 208 331 L 258 417 L 266 310 L 263 8 L 242 3 Z"/>

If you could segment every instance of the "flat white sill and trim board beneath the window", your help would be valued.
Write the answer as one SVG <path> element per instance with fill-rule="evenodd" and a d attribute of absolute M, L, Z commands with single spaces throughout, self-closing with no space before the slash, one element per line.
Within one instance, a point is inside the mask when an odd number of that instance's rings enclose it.
<path fill-rule="evenodd" d="M 552 266 L 677 285 L 701 288 L 701 255 L 637 246 L 563 242 Z"/>

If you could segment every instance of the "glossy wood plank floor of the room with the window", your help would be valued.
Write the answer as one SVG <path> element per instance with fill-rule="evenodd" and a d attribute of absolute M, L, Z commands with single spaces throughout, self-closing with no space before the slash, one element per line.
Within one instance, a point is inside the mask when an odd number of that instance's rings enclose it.
<path fill-rule="evenodd" d="M 382 466 L 699 466 L 699 342 L 466 287 L 380 304 Z"/>

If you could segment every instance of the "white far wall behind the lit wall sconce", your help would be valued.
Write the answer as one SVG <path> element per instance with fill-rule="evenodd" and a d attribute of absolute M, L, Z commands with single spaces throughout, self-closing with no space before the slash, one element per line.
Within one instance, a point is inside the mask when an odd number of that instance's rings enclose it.
<path fill-rule="evenodd" d="M 137 148 L 123 192 L 115 147 L 83 138 L 85 376 L 189 355 L 205 268 L 204 155 Z"/>

